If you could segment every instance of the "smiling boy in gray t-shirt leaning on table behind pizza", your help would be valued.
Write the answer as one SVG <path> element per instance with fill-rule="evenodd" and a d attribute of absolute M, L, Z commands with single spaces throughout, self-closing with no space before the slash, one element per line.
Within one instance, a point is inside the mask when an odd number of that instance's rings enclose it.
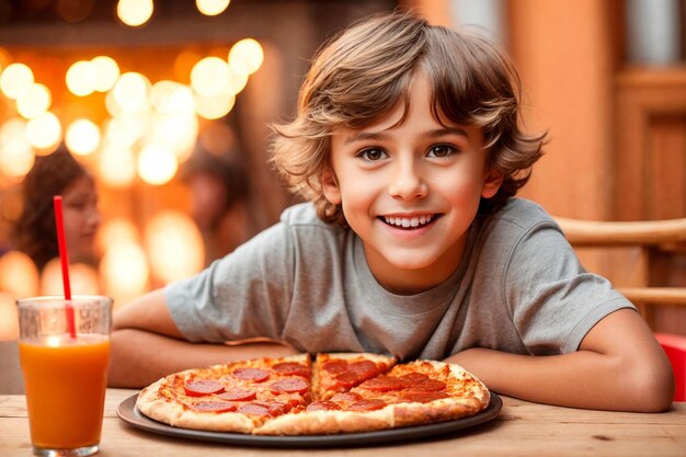
<path fill-rule="evenodd" d="M 531 401 L 668 408 L 670 363 L 632 305 L 512 198 L 544 139 L 519 130 L 513 80 L 487 41 L 409 14 L 344 32 L 276 127 L 274 163 L 310 203 L 115 315 L 111 381 L 368 351 L 459 363 Z M 188 343 L 260 336 L 288 345 Z"/>

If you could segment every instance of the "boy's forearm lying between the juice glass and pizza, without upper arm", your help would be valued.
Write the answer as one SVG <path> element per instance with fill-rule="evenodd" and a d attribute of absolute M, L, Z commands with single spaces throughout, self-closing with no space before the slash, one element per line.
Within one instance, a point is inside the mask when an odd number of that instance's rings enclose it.
<path fill-rule="evenodd" d="M 232 359 L 283 356 L 296 351 L 278 343 L 194 344 L 136 329 L 115 330 L 111 335 L 111 361 L 107 385 L 140 388 L 157 379 L 187 368 L 197 368 Z"/>

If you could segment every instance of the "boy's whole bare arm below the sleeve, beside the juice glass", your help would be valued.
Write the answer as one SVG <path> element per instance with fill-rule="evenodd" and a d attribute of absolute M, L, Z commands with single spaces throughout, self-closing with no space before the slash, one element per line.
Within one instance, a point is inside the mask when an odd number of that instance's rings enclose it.
<path fill-rule="evenodd" d="M 290 346 L 272 342 L 231 346 L 190 343 L 183 340 L 167 309 L 164 290 L 159 289 L 114 312 L 108 385 L 144 387 L 186 368 L 295 353 Z"/>

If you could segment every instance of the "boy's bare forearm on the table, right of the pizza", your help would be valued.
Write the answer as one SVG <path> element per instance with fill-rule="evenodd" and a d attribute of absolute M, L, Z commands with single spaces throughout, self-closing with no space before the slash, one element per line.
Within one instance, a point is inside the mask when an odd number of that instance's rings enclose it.
<path fill-rule="evenodd" d="M 619 357 L 591 351 L 528 356 L 471 349 L 447 362 L 464 366 L 495 392 L 539 403 L 660 412 L 668 408 L 673 395 L 664 377 L 651 382 L 649 377 L 628 373 Z"/>

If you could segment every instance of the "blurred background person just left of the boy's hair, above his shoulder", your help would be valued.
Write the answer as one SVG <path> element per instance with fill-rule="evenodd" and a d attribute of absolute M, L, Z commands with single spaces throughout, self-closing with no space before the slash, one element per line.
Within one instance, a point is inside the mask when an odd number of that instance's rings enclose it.
<path fill-rule="evenodd" d="M 214 153 L 197 144 L 182 178 L 191 191 L 190 215 L 205 244 L 205 263 L 222 258 L 253 233 L 248 170 L 235 150 Z"/>

